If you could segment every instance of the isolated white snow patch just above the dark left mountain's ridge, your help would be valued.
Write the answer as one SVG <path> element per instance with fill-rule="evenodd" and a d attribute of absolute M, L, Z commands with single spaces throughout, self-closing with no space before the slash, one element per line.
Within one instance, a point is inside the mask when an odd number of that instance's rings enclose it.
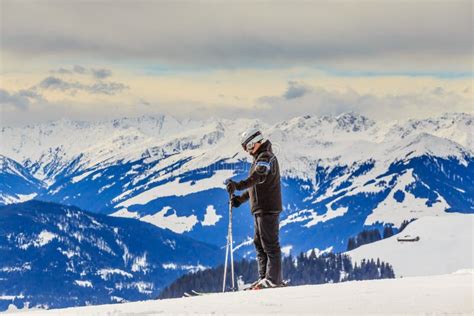
<path fill-rule="evenodd" d="M 171 214 L 169 211 L 172 211 Z M 169 206 L 163 207 L 161 211 L 153 215 L 144 216 L 140 220 L 160 228 L 167 228 L 178 234 L 192 230 L 198 223 L 196 215 L 178 216 L 176 210 Z"/>

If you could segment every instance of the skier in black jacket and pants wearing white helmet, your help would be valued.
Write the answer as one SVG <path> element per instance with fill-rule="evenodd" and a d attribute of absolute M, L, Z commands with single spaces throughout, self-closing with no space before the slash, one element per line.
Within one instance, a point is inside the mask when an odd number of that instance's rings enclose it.
<path fill-rule="evenodd" d="M 249 177 L 240 182 L 229 180 L 227 191 L 245 190 L 231 199 L 233 207 L 250 200 L 254 217 L 254 244 L 257 251 L 259 279 L 250 289 L 282 285 L 279 216 L 282 210 L 280 168 L 272 152 L 272 144 L 258 129 L 250 129 L 241 136 L 241 145 L 253 156 Z"/>

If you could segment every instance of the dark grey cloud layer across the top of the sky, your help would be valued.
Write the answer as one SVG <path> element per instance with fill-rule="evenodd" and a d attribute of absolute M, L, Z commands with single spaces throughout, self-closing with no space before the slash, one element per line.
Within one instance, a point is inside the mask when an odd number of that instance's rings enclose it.
<path fill-rule="evenodd" d="M 470 0 L 4 0 L 2 49 L 217 67 L 471 71 L 472 22 Z"/>

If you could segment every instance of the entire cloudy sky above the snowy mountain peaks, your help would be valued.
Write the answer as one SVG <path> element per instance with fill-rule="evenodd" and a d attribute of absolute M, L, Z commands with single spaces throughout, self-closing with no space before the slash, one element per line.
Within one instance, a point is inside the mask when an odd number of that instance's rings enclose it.
<path fill-rule="evenodd" d="M 473 2 L 0 0 L 0 123 L 473 113 Z"/>

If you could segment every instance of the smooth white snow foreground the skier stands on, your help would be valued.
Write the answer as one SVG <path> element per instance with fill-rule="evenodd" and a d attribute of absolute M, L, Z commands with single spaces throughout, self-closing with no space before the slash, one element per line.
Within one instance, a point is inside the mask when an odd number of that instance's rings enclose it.
<path fill-rule="evenodd" d="M 461 270 L 439 276 L 306 285 L 50 311 L 12 311 L 7 315 L 472 315 L 473 273 L 473 270 Z"/>

